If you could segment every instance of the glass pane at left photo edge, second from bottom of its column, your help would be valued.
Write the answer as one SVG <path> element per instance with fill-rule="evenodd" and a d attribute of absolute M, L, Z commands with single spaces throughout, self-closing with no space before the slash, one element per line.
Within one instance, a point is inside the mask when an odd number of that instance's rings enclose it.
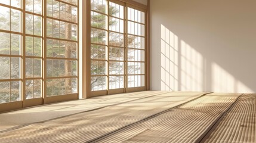
<path fill-rule="evenodd" d="M 1 74 L 0 79 L 10 79 L 10 58 L 0 57 Z"/>

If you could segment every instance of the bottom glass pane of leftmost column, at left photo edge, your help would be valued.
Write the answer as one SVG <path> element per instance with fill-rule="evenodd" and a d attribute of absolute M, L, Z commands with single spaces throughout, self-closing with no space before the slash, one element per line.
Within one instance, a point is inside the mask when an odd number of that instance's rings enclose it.
<path fill-rule="evenodd" d="M 0 82 L 0 103 L 10 102 L 10 82 Z"/>

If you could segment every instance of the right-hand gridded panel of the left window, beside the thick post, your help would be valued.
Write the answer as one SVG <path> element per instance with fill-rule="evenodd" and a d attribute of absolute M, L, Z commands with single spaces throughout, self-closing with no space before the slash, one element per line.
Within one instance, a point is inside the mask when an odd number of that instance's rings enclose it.
<path fill-rule="evenodd" d="M 47 97 L 78 93 L 77 12 L 70 2 L 47 3 Z"/>

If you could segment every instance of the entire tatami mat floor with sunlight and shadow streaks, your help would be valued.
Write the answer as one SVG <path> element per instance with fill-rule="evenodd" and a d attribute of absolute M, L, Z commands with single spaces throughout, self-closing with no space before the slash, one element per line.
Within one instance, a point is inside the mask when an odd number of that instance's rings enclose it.
<path fill-rule="evenodd" d="M 256 94 L 145 91 L 0 114 L 0 142 L 256 142 Z"/>

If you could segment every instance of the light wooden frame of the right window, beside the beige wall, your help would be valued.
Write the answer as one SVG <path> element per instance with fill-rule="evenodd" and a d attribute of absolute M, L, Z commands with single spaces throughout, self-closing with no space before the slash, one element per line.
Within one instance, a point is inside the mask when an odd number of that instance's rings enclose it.
<path fill-rule="evenodd" d="M 82 88 L 83 88 L 83 98 L 91 98 L 95 96 L 100 95 L 109 95 L 109 94 L 118 94 L 124 92 L 136 92 L 136 91 L 146 91 L 150 89 L 150 82 L 149 82 L 149 0 L 148 5 L 143 5 L 138 2 L 132 1 L 132 0 L 109 0 L 111 2 L 115 2 L 117 4 L 125 3 L 125 14 L 127 14 L 127 7 L 134 8 L 136 10 L 143 11 L 145 13 L 145 86 L 144 87 L 138 87 L 138 88 L 127 88 L 127 85 L 125 85 L 124 89 L 116 89 L 116 90 L 103 90 L 103 91 L 91 91 L 91 1 L 87 0 L 83 3 L 83 7 L 85 10 L 83 10 L 83 13 L 85 15 L 83 16 L 83 19 L 86 18 L 87 21 L 84 21 L 85 24 L 83 24 L 83 32 L 87 33 L 85 38 L 85 42 L 82 43 L 83 45 L 83 54 L 86 55 L 83 57 L 82 61 L 84 63 L 83 69 L 84 72 L 82 73 Z M 107 3 L 109 3 L 107 1 Z M 127 6 L 128 5 L 128 6 Z M 109 4 L 107 4 L 107 7 L 109 7 Z M 109 18 L 108 18 L 109 20 Z M 127 21 L 127 17 L 124 18 L 125 21 Z M 125 22 L 126 23 L 126 22 Z M 126 29 L 127 26 L 124 28 Z M 109 26 L 107 27 L 109 32 Z M 127 33 L 127 32 L 125 32 Z M 125 49 L 126 50 L 126 49 Z M 126 52 L 127 53 L 127 52 Z M 126 62 L 127 63 L 127 62 Z M 109 71 L 107 71 L 109 73 Z M 127 73 L 125 73 L 127 75 Z M 126 78 L 127 76 L 125 76 Z M 109 85 L 109 82 L 107 83 Z"/>

